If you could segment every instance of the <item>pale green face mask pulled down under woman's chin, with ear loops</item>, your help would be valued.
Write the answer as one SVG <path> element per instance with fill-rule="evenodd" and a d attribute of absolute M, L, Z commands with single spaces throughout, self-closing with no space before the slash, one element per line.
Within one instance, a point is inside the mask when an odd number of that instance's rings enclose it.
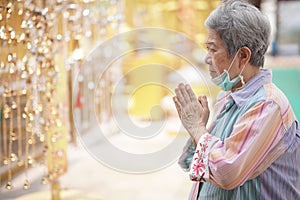
<path fill-rule="evenodd" d="M 242 72 L 243 72 L 245 66 L 243 67 L 242 71 L 240 72 L 240 74 L 237 77 L 230 80 L 230 76 L 229 76 L 229 70 L 231 69 L 238 52 L 239 51 L 236 52 L 230 66 L 228 68 L 228 71 L 225 69 L 222 74 L 220 74 L 219 76 L 212 79 L 212 82 L 215 83 L 217 86 L 220 86 L 222 88 L 222 90 L 224 90 L 224 91 L 231 90 L 233 88 L 233 86 L 235 86 L 240 81 L 242 82 L 242 86 L 238 89 L 242 89 L 245 86 L 244 77 L 242 76 Z"/>

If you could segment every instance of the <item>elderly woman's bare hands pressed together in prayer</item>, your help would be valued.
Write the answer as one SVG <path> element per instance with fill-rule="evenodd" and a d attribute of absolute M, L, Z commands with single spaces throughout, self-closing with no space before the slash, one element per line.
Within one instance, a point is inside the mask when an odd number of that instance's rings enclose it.
<path fill-rule="evenodd" d="M 206 124 L 209 117 L 207 98 L 201 95 L 196 98 L 190 85 L 180 83 L 173 97 L 182 125 L 197 145 L 199 138 L 207 132 Z"/>

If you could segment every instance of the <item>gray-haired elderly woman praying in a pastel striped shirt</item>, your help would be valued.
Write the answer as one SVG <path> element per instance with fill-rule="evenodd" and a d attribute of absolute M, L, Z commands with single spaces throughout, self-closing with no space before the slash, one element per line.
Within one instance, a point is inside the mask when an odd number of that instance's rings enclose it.
<path fill-rule="evenodd" d="M 222 89 L 211 125 L 205 96 L 179 84 L 173 98 L 190 134 L 179 159 L 194 181 L 190 199 L 300 199 L 299 125 L 262 69 L 268 19 L 245 1 L 225 1 L 205 23 L 205 62 Z"/>

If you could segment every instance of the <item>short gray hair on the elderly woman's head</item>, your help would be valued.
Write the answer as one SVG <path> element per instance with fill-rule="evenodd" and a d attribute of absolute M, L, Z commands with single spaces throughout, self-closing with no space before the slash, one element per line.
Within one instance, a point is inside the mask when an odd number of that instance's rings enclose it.
<path fill-rule="evenodd" d="M 251 50 L 250 64 L 262 67 L 269 46 L 271 26 L 268 18 L 247 1 L 224 1 L 205 21 L 205 26 L 215 30 L 233 56 L 239 48 Z"/>

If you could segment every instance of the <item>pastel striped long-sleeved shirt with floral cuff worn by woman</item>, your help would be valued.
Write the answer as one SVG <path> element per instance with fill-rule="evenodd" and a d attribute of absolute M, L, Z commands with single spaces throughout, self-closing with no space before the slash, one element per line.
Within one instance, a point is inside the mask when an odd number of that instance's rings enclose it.
<path fill-rule="evenodd" d="M 300 127 L 270 70 L 221 92 L 212 122 L 179 159 L 190 199 L 300 199 Z"/>

